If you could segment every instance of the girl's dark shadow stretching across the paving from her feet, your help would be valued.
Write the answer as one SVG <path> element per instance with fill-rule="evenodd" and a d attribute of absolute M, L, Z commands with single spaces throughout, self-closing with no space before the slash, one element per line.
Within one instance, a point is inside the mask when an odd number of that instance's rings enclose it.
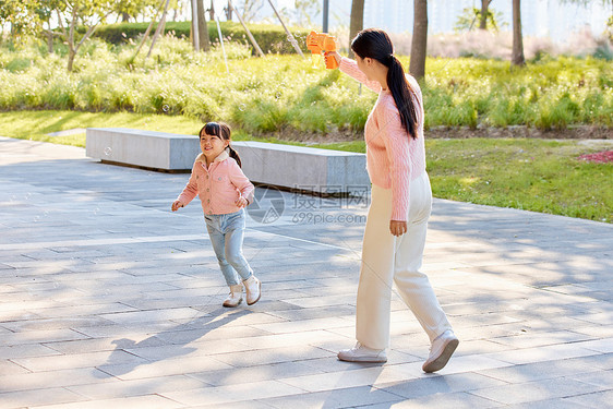
<path fill-rule="evenodd" d="M 111 342 L 116 346 L 115 350 L 109 356 L 107 362 L 96 366 L 98 371 L 95 374 L 100 378 L 120 376 L 134 371 L 141 365 L 187 356 L 197 349 L 188 347 L 190 342 L 249 313 L 251 313 L 249 310 L 228 312 L 227 309 L 217 309 L 206 313 L 206 315 L 196 316 L 187 323 L 152 335 L 139 342 L 129 338 L 116 339 Z M 139 348 L 151 347 L 160 347 L 160 352 L 158 354 L 147 354 L 145 362 L 143 362 L 143 359 L 127 359 L 127 354 L 137 357 Z"/>

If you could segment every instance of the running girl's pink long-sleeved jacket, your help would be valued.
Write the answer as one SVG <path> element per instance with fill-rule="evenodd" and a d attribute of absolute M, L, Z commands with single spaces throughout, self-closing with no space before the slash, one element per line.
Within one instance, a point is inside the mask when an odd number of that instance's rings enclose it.
<path fill-rule="evenodd" d="M 241 209 L 235 203 L 240 195 L 251 204 L 254 190 L 237 161 L 224 151 L 208 169 L 204 155 L 196 157 L 192 176 L 177 200 L 188 205 L 197 194 L 205 215 L 227 215 Z"/>

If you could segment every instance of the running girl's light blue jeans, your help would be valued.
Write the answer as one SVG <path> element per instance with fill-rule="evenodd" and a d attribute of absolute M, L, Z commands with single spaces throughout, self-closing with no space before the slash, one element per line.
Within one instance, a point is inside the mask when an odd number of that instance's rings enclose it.
<path fill-rule="evenodd" d="M 204 221 L 228 286 L 236 286 L 251 277 L 253 270 L 242 254 L 244 209 L 227 215 L 204 215 Z"/>

